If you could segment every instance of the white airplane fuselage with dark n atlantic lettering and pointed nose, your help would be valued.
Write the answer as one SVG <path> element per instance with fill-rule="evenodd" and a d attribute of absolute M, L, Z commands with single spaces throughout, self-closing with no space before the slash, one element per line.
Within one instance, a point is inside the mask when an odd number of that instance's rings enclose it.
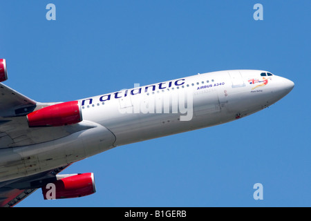
<path fill-rule="evenodd" d="M 250 115 L 294 83 L 264 70 L 226 70 L 80 99 L 90 128 L 66 137 L 0 149 L 0 181 L 48 171 L 115 146 L 182 133 Z"/>

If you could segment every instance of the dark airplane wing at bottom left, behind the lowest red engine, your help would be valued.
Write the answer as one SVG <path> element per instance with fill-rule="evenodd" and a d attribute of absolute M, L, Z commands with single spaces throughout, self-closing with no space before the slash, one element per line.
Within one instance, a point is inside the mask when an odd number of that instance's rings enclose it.
<path fill-rule="evenodd" d="M 15 206 L 37 189 L 49 182 L 55 182 L 57 173 L 60 173 L 69 165 L 28 177 L 0 182 L 0 207 Z"/>

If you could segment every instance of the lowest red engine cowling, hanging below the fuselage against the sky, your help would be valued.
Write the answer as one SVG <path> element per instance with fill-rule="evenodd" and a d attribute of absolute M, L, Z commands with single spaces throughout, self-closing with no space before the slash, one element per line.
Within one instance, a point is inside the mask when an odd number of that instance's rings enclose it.
<path fill-rule="evenodd" d="M 96 192 L 93 173 L 64 177 L 53 184 L 41 188 L 44 200 L 79 198 Z"/>

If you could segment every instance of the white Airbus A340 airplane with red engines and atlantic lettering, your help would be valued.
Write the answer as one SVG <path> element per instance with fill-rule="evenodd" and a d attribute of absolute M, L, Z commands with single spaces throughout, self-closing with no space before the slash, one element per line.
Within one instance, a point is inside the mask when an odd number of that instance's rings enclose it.
<path fill-rule="evenodd" d="M 0 59 L 0 81 L 8 79 Z M 288 95 L 266 70 L 221 70 L 70 102 L 41 103 L 0 83 L 0 206 L 95 193 L 93 173 L 59 174 L 116 146 L 225 124 Z"/>

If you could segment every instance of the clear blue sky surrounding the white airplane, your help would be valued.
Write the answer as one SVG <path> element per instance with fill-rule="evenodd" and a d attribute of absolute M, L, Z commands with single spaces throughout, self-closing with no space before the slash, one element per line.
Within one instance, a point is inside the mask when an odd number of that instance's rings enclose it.
<path fill-rule="evenodd" d="M 311 206 L 311 1 L 0 1 L 6 85 L 66 102 L 228 69 L 295 83 L 249 117 L 120 146 L 68 167 L 97 193 L 17 206 Z M 46 19 L 46 5 L 56 20 Z M 255 21 L 255 3 L 263 21 Z M 263 200 L 253 186 L 263 184 Z"/>

